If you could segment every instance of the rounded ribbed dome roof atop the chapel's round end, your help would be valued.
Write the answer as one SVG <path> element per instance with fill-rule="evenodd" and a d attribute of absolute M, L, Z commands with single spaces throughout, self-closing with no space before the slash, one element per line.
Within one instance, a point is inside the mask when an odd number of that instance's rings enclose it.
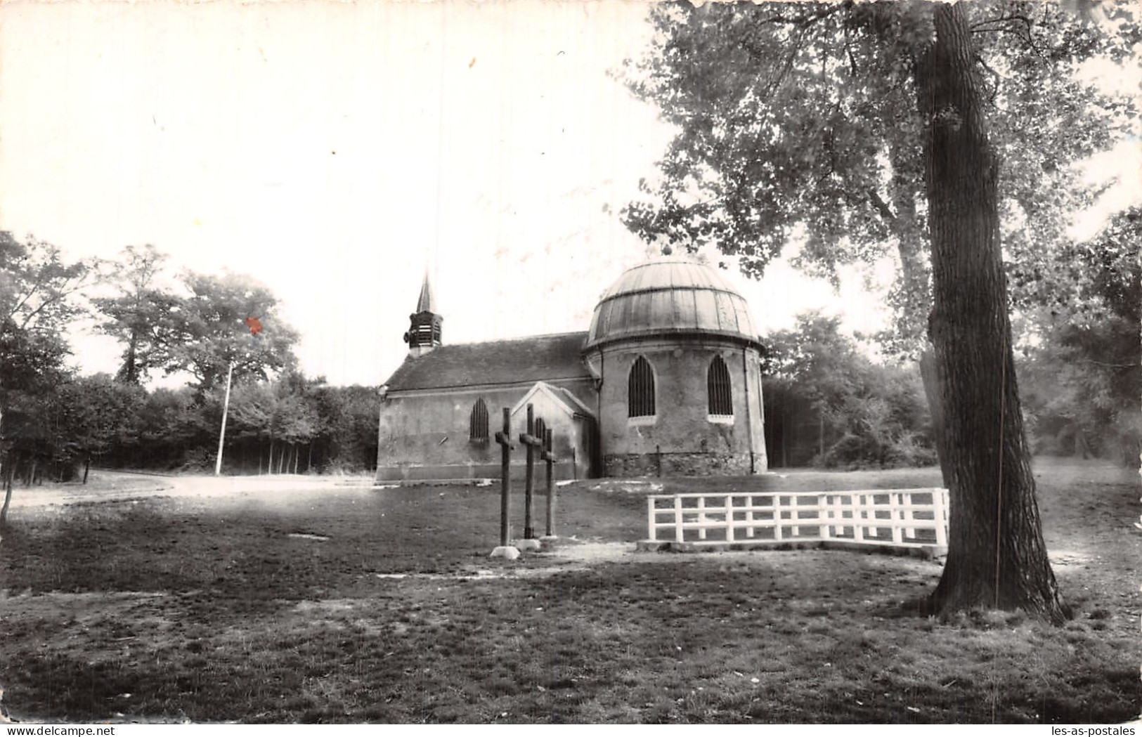
<path fill-rule="evenodd" d="M 627 269 L 603 292 L 590 319 L 586 347 L 677 333 L 757 342 L 746 300 L 716 269 L 666 257 Z"/>

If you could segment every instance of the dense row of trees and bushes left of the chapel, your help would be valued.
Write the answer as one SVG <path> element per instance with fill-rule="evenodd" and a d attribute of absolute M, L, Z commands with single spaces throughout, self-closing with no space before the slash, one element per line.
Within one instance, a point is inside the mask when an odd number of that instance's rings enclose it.
<path fill-rule="evenodd" d="M 91 463 L 212 467 L 226 375 L 231 472 L 361 471 L 376 464 L 379 398 L 297 368 L 297 332 L 272 292 L 239 274 L 168 278 L 154 246 L 69 261 L 55 245 L 0 233 L 0 480 L 86 480 Z M 67 365 L 78 321 L 122 346 L 119 368 Z M 178 389 L 147 389 L 178 374 Z"/>

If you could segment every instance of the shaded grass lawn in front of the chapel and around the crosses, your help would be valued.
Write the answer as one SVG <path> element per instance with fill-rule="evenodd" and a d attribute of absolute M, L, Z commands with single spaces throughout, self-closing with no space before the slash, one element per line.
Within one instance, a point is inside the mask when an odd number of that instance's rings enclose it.
<path fill-rule="evenodd" d="M 93 475 L 80 502 L 13 510 L 0 685 L 15 718 L 53 721 L 1133 719 L 1136 476 L 1036 472 L 1062 627 L 906 614 L 940 575 L 912 558 L 589 544 L 644 537 L 649 492 L 935 486 L 933 470 L 582 481 L 560 489 L 574 540 L 514 562 L 486 558 L 496 486 L 104 499 Z"/>

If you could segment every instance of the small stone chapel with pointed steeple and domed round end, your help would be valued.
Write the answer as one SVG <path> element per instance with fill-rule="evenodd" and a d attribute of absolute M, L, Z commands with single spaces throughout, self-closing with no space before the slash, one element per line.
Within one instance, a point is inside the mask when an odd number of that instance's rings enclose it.
<path fill-rule="evenodd" d="M 380 390 L 378 481 L 498 477 L 505 407 L 522 476 L 529 404 L 560 479 L 766 469 L 762 345 L 746 300 L 705 264 L 627 269 L 586 332 L 445 343 L 427 275 L 409 321 Z"/>

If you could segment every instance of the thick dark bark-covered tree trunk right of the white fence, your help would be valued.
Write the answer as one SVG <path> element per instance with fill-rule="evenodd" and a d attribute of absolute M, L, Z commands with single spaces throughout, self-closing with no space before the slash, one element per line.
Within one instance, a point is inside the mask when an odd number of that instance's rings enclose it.
<path fill-rule="evenodd" d="M 928 121 L 932 235 L 928 334 L 948 453 L 948 559 L 938 612 L 1022 609 L 1052 622 L 1059 596 L 1035 501 L 999 246 L 997 162 L 988 141 L 964 3 L 933 8 L 935 44 L 917 66 Z"/>

